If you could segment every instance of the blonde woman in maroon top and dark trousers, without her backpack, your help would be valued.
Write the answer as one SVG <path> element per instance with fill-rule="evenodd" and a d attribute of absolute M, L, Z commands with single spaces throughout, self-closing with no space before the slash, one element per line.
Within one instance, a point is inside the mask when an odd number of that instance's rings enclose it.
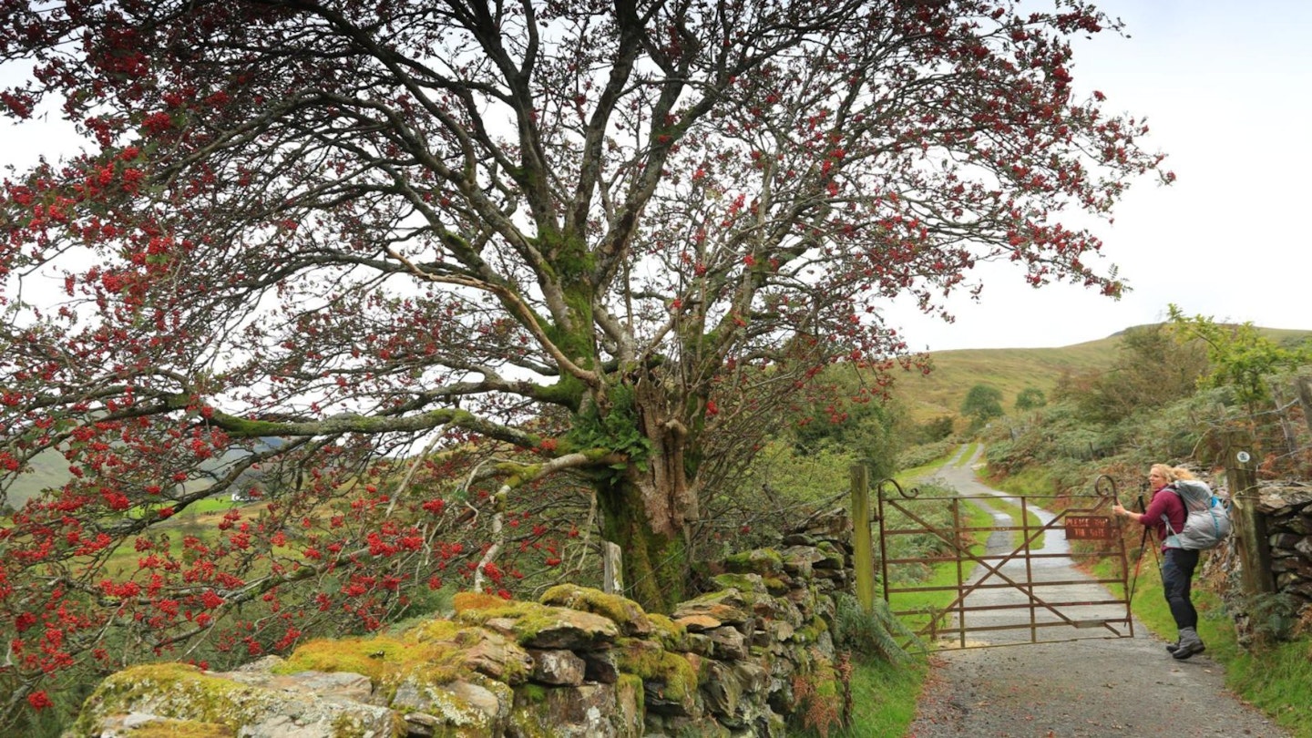
<path fill-rule="evenodd" d="M 1198 566 L 1198 552 L 1174 548 L 1166 531 L 1168 523 L 1172 531 L 1183 531 L 1187 516 L 1183 500 L 1166 487 L 1176 479 L 1193 478 L 1194 475 L 1187 469 L 1153 464 L 1148 471 L 1148 485 L 1153 491 L 1148 510 L 1134 512 L 1119 503 L 1111 508 L 1117 515 L 1123 515 L 1140 525 L 1152 528 L 1157 533 L 1157 540 L 1161 541 L 1161 588 L 1166 595 L 1166 604 L 1170 605 L 1170 616 L 1176 620 L 1176 628 L 1179 632 L 1178 642 L 1168 645 L 1166 650 L 1177 659 L 1187 659 L 1207 649 L 1198 637 L 1198 611 L 1194 609 L 1194 603 L 1190 600 L 1190 580 L 1194 578 L 1194 567 Z"/>

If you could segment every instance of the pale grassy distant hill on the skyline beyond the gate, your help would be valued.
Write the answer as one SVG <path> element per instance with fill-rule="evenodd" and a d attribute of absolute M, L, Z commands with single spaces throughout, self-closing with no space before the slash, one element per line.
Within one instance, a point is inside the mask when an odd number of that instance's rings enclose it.
<path fill-rule="evenodd" d="M 1278 343 L 1312 339 L 1312 331 L 1260 330 Z M 893 397 L 907 406 L 913 420 L 926 422 L 945 415 L 959 415 L 966 393 L 972 386 L 983 383 L 1001 390 L 1002 408 L 1010 412 L 1017 393 L 1025 387 L 1038 387 L 1051 398 L 1063 373 L 1110 366 L 1119 356 L 1120 337 L 1126 331 L 1063 348 L 968 348 L 930 352 L 934 370 L 928 376 L 913 372 L 899 374 L 893 385 Z"/>

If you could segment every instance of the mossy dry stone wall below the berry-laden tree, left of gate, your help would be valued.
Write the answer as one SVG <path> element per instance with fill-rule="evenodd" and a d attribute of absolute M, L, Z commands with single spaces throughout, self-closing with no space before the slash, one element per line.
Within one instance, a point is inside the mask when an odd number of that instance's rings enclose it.
<path fill-rule="evenodd" d="M 537 603 L 463 595 L 450 620 L 230 672 L 138 666 L 66 735 L 782 737 L 803 713 L 845 709 L 832 626 L 853 584 L 848 517 L 722 571 L 669 617 L 563 584 Z"/>

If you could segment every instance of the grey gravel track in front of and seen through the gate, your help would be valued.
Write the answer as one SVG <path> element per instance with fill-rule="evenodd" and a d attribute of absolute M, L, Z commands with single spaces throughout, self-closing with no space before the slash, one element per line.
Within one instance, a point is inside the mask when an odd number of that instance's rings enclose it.
<path fill-rule="evenodd" d="M 937 475 L 962 495 L 1001 495 L 975 479 L 970 461 L 958 461 Z M 1065 541 L 1048 545 L 1064 546 Z M 989 553 L 1009 550 L 1005 541 L 991 538 Z M 1069 558 L 1050 562 L 1043 576 L 1084 576 Z M 1110 597 L 1097 583 L 1080 586 L 1101 590 L 1094 599 Z M 1023 630 L 1000 633 L 1029 637 Z M 1227 692 L 1220 664 L 1206 654 L 1179 662 L 1138 621 L 1134 633 L 1132 638 L 941 651 L 907 737 L 1288 735 Z M 1005 636 L 991 638 L 998 642 Z"/>

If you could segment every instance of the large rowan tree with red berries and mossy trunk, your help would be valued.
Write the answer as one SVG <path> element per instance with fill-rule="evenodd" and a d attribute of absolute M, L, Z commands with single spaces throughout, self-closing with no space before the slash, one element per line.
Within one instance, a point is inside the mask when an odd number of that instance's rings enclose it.
<path fill-rule="evenodd" d="M 677 601 L 714 454 L 828 362 L 893 366 L 890 298 L 939 311 L 983 260 L 1120 290 L 1060 221 L 1161 162 L 1073 89 L 1103 30 L 1082 3 L 0 1 L 8 114 L 85 137 L 0 202 L 0 467 L 72 471 L 0 532 L 10 706 L 109 625 L 377 626 L 563 473 L 628 594 Z M 161 540 L 260 479 L 258 516 Z"/>

